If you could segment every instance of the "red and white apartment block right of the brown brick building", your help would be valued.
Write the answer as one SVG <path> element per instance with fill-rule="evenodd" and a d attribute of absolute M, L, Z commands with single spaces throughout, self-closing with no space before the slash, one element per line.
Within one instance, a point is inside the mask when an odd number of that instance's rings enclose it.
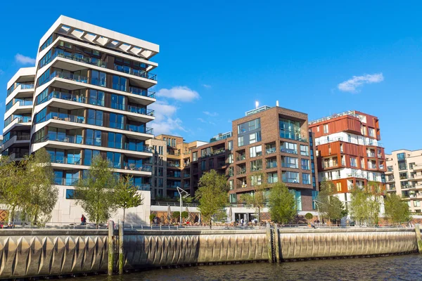
<path fill-rule="evenodd" d="M 369 181 L 385 188 L 385 154 L 378 118 L 348 111 L 309 122 L 314 133 L 319 180 L 332 181 L 346 206 L 354 185 Z"/>

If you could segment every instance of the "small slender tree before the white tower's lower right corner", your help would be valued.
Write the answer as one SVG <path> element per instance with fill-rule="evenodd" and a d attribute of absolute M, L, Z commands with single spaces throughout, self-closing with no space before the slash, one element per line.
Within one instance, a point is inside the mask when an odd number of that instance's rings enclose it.
<path fill-rule="evenodd" d="M 122 176 L 114 190 L 115 202 L 118 208 L 123 209 L 123 222 L 126 220 L 126 209 L 138 207 L 142 204 L 142 195 L 133 185 L 132 176 Z"/>

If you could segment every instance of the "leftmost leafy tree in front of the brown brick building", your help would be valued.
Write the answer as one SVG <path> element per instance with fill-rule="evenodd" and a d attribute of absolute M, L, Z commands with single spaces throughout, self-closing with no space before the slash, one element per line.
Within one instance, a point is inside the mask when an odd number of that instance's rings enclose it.
<path fill-rule="evenodd" d="M 206 172 L 201 176 L 196 190 L 195 198 L 198 200 L 198 209 L 202 220 L 212 223 L 212 218 L 219 220 L 226 216 L 224 207 L 227 203 L 226 176 L 220 175 L 215 170 Z"/>

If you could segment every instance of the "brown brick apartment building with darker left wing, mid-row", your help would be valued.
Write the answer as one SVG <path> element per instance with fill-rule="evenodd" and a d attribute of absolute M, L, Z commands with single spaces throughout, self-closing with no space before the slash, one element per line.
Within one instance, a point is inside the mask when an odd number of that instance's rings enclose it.
<path fill-rule="evenodd" d="M 215 169 L 227 176 L 229 199 L 236 203 L 262 183 L 254 176 L 260 172 L 270 184 L 283 181 L 294 192 L 300 211 L 314 209 L 318 176 L 307 115 L 278 106 L 262 106 L 245 115 L 232 122 L 233 133 L 191 150 L 191 193 L 200 176 Z"/>

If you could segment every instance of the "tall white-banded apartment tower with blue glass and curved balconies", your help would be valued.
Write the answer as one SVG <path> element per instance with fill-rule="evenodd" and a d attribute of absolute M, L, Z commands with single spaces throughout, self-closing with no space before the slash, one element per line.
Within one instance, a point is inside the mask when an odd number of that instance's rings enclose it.
<path fill-rule="evenodd" d="M 60 16 L 39 43 L 35 67 L 8 82 L 3 155 L 20 159 L 41 148 L 51 155 L 60 199 L 53 221 L 77 221 L 75 181 L 101 155 L 144 190 L 134 210 L 148 222 L 153 138 L 148 105 L 157 84 L 151 58 L 159 46 Z M 141 209 L 148 209 L 142 211 Z"/>

